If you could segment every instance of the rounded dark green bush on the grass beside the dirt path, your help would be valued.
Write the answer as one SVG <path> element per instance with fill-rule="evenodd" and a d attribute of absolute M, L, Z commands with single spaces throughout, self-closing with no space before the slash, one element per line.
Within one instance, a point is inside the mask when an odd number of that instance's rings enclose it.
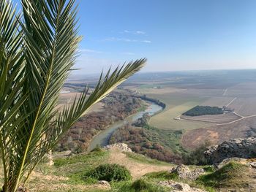
<path fill-rule="evenodd" d="M 97 168 L 86 174 L 86 179 L 89 177 L 108 182 L 132 179 L 129 170 L 118 164 L 102 164 L 97 166 Z"/>

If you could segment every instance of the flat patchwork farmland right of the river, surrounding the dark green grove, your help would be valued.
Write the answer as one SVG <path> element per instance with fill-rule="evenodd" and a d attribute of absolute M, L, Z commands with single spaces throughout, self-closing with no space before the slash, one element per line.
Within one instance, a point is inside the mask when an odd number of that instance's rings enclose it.
<path fill-rule="evenodd" d="M 255 70 L 144 74 L 127 84 L 127 88 L 166 104 L 148 123 L 164 130 L 183 130 L 181 144 L 187 149 L 205 140 L 217 143 L 255 135 L 255 87 Z M 197 105 L 225 106 L 234 112 L 181 116 Z"/>

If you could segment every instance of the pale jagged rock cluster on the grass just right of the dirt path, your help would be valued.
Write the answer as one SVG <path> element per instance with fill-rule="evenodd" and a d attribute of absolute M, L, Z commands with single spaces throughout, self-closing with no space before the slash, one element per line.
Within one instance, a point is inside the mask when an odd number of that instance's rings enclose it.
<path fill-rule="evenodd" d="M 203 169 L 195 169 L 193 171 L 190 171 L 188 166 L 179 165 L 177 167 L 173 167 L 173 169 L 170 170 L 170 173 L 178 174 L 178 178 L 180 178 L 180 179 L 196 180 L 197 177 L 199 177 L 200 175 L 202 175 L 204 173 L 204 170 Z"/>

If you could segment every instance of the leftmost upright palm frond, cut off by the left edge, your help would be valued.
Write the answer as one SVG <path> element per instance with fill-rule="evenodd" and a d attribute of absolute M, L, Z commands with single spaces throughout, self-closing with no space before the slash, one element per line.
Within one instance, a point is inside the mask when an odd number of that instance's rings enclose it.
<path fill-rule="evenodd" d="M 20 107 L 26 97 L 21 95 L 24 60 L 20 49 L 21 34 L 15 7 L 10 1 L 0 1 L 0 149 L 4 167 L 4 188 L 8 188 L 8 174 L 15 161 L 12 153 L 18 128 L 26 115 Z"/>

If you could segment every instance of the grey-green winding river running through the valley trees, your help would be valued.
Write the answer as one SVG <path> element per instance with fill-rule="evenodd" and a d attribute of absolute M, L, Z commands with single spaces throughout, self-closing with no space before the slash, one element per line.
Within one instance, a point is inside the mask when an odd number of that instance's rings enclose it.
<path fill-rule="evenodd" d="M 88 147 L 88 151 L 93 150 L 97 146 L 108 145 L 108 141 L 109 141 L 110 137 L 112 136 L 113 132 L 116 131 L 117 128 L 124 126 L 128 122 L 132 123 L 135 120 L 138 120 L 138 118 L 142 118 L 143 114 L 145 114 L 146 112 L 148 112 L 149 115 L 154 115 L 154 114 L 160 112 L 161 110 L 163 110 L 163 108 L 161 106 L 159 106 L 158 104 L 154 104 L 154 103 L 151 103 L 148 101 L 147 101 L 147 103 L 149 105 L 146 108 L 146 110 L 144 110 L 142 112 L 137 112 L 133 115 L 130 115 L 128 118 L 126 118 L 124 120 L 118 120 L 116 123 L 113 123 L 112 125 L 108 126 L 108 128 L 105 129 L 104 131 L 100 131 L 99 134 L 97 134 L 94 137 L 94 139 L 91 140 L 91 143 Z"/>

